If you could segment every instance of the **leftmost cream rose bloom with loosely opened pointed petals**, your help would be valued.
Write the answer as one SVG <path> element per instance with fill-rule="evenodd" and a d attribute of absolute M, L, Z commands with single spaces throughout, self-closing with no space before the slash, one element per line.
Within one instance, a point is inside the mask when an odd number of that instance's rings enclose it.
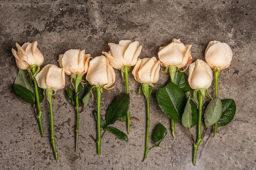
<path fill-rule="evenodd" d="M 12 54 L 15 57 L 16 65 L 21 70 L 26 70 L 29 66 L 40 66 L 43 64 L 43 54 L 37 48 L 37 42 L 27 42 L 20 46 L 16 42 L 18 51 L 11 49 Z"/>

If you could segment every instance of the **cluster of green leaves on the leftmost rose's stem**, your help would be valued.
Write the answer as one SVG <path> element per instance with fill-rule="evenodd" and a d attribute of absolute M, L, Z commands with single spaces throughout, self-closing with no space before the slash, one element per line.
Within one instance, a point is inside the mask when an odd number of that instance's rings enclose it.
<path fill-rule="evenodd" d="M 36 104 L 36 96 L 35 96 L 35 87 L 34 83 L 31 81 L 31 77 L 25 73 L 25 71 L 18 71 L 18 75 L 13 84 L 14 93 L 17 95 L 20 101 L 25 104 Z M 40 102 L 43 101 L 43 89 L 38 87 L 38 94 Z"/>

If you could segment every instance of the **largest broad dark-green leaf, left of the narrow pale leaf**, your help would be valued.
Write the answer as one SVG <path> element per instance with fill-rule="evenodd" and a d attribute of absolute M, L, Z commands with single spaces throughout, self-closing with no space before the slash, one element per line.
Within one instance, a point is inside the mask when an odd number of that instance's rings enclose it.
<path fill-rule="evenodd" d="M 184 91 L 170 82 L 165 87 L 157 89 L 156 99 L 164 114 L 174 120 L 181 121 L 186 106 Z"/>

